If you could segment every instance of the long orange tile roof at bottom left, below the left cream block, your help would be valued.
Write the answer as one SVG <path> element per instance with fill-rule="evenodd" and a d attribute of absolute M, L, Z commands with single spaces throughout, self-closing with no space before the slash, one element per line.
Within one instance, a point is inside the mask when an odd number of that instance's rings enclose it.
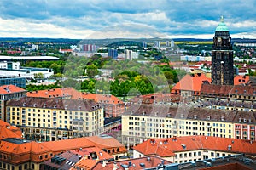
<path fill-rule="evenodd" d="M 100 147 L 96 150 L 108 149 L 111 146 L 112 148 L 120 148 L 122 152 L 126 152 L 125 146 L 123 144 L 120 145 L 119 142 L 115 141 L 113 138 L 111 139 L 112 144 L 109 144 L 110 140 L 108 139 L 106 142 L 101 140 L 102 143 L 100 143 L 99 141 L 94 142 L 92 139 L 88 138 L 66 139 L 43 143 L 24 141 L 22 139 L 11 140 L 12 141 L 10 141 L 10 139 L 0 140 L 0 153 L 8 156 L 12 155 L 11 161 L 15 164 L 26 161 L 42 162 L 50 158 L 50 156 L 47 158 L 44 157 L 45 155 L 49 155 L 49 153 L 55 155 L 67 150 L 78 150 L 80 148 L 87 149 L 91 147 L 96 148 L 98 146 Z M 102 153 L 104 152 L 102 151 Z M 20 155 L 22 155 L 22 157 L 20 157 Z"/>

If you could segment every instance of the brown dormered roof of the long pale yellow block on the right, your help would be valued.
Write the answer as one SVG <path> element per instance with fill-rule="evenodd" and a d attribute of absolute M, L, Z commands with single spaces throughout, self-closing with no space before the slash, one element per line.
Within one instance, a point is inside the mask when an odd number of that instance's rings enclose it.
<path fill-rule="evenodd" d="M 193 106 L 173 107 L 169 105 L 131 105 L 123 116 L 170 117 L 190 120 L 222 122 L 239 122 L 239 119 L 251 120 L 256 123 L 255 111 L 212 110 L 207 108 L 194 108 Z M 183 116 L 183 117 L 182 117 Z"/>

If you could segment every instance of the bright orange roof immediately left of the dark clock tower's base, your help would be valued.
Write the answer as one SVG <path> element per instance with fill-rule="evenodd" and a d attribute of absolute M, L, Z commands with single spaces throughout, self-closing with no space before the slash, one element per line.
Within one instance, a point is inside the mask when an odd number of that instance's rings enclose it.
<path fill-rule="evenodd" d="M 200 92 L 204 82 L 211 82 L 211 78 L 202 73 L 186 75 L 172 88 L 172 93 L 175 93 L 175 90 Z"/>

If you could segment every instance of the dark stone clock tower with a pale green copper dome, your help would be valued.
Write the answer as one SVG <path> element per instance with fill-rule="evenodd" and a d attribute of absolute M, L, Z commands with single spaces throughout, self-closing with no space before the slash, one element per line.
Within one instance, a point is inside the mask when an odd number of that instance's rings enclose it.
<path fill-rule="evenodd" d="M 233 50 L 230 31 L 220 19 L 212 46 L 212 84 L 234 85 Z"/>

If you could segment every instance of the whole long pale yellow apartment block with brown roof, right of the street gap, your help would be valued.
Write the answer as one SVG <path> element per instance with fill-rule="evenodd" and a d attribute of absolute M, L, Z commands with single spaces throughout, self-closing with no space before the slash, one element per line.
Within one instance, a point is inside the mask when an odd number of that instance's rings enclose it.
<path fill-rule="evenodd" d="M 239 133 L 239 139 L 255 140 L 255 118 L 256 113 L 253 111 L 132 105 L 122 116 L 122 141 L 131 147 L 146 139 L 174 136 L 203 135 L 238 139 L 236 124 L 247 127 L 247 133 Z"/>

